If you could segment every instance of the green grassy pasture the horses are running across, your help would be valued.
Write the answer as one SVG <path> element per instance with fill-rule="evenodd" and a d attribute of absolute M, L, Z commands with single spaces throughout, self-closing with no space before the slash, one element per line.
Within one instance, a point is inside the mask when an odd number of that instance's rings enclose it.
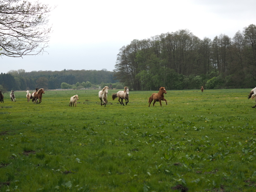
<path fill-rule="evenodd" d="M 251 192 L 256 132 L 251 89 L 129 93 L 45 91 L 0 103 L 0 191 Z M 32 91 L 30 91 L 31 93 Z M 78 95 L 76 107 L 70 97 Z"/>

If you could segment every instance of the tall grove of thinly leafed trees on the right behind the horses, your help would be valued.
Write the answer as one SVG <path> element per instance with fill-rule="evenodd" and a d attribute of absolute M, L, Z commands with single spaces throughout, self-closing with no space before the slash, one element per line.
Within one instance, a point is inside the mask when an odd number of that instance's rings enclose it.
<path fill-rule="evenodd" d="M 203 40 L 189 30 L 133 40 L 119 50 L 116 78 L 134 90 L 253 88 L 256 26 Z"/>

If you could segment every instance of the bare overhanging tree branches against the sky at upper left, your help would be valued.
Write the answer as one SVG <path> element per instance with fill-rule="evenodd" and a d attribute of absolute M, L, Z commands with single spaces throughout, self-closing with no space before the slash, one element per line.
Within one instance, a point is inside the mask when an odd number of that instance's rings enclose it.
<path fill-rule="evenodd" d="M 51 28 L 50 8 L 28 0 L 0 1 L 0 54 L 9 57 L 36 55 L 47 47 Z"/>

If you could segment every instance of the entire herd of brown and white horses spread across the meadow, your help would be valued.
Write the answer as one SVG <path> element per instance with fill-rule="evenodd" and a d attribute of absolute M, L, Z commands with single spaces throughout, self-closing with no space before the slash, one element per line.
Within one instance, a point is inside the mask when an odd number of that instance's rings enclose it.
<path fill-rule="evenodd" d="M 101 91 L 99 91 L 99 99 L 100 99 L 101 106 L 106 107 L 108 89 L 109 89 L 109 87 L 105 86 Z M 124 91 L 119 91 L 112 95 L 112 100 L 115 100 L 118 97 L 119 103 L 123 106 L 125 106 L 125 104 L 127 105 L 129 102 L 129 89 L 127 86 L 125 86 L 124 89 L 125 89 Z M 202 92 L 204 91 L 203 86 L 201 86 L 201 91 Z M 43 88 L 41 88 L 41 89 L 36 88 L 36 91 L 32 92 L 32 93 L 29 93 L 29 91 L 26 91 L 26 92 L 27 92 L 26 98 L 28 99 L 28 102 L 30 99 L 32 99 L 33 103 L 36 103 L 36 104 L 40 104 L 42 102 L 42 95 L 45 93 Z M 162 100 L 165 101 L 166 105 L 167 105 L 167 100 L 164 99 L 164 94 L 166 94 L 166 90 L 163 86 L 161 86 L 159 88 L 158 93 L 153 93 L 149 97 L 149 101 L 148 101 L 149 106 L 153 100 L 154 100 L 153 107 L 155 106 L 156 102 L 159 102 L 160 106 L 162 107 L 162 103 L 161 103 Z M 254 89 L 252 89 L 251 92 L 249 93 L 248 99 L 250 99 L 250 98 L 251 99 L 255 98 L 255 102 L 256 102 L 256 87 Z M 14 91 L 11 91 L 10 99 L 12 100 L 12 102 L 16 102 Z M 120 99 L 121 99 L 121 101 L 120 101 Z M 125 104 L 123 103 L 123 99 L 125 99 Z M 38 102 L 38 100 L 39 100 L 39 102 Z M 69 101 L 69 106 L 72 107 L 72 105 L 73 105 L 73 107 L 74 106 L 76 107 L 77 100 L 78 100 L 78 95 L 74 95 L 73 97 L 71 97 L 70 101 Z M 0 90 L 0 102 L 1 103 L 3 102 L 3 94 L 2 94 L 1 90 Z M 256 104 L 252 108 L 255 108 L 255 107 L 256 107 Z"/>

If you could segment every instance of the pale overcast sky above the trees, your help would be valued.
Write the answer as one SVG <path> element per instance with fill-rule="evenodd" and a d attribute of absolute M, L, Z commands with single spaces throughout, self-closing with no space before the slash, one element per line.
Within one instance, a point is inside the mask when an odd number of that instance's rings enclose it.
<path fill-rule="evenodd" d="M 188 29 L 211 40 L 233 38 L 256 24 L 256 0 L 39 0 L 49 7 L 52 33 L 43 54 L 2 56 L 0 73 L 30 71 L 114 70 L 119 49 L 134 39 Z"/>

